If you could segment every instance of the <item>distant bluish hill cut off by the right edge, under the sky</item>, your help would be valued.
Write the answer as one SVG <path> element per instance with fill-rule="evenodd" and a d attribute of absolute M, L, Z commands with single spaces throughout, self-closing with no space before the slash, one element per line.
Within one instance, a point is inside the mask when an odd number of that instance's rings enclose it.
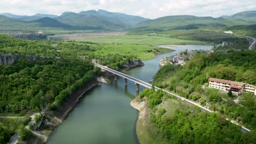
<path fill-rule="evenodd" d="M 256 10 L 252 11 L 242 11 L 240 13 L 231 15 L 231 16 L 220 16 L 224 19 L 235 20 L 241 22 L 247 22 L 250 24 L 256 24 Z"/>

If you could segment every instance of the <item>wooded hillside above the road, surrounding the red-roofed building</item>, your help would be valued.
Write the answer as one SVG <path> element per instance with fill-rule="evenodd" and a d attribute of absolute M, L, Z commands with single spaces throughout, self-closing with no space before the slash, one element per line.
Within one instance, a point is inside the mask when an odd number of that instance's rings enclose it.
<path fill-rule="evenodd" d="M 220 47 L 215 52 L 198 51 L 184 67 L 167 64 L 155 75 L 155 85 L 197 101 L 255 130 L 254 94 L 242 94 L 237 104 L 233 101 L 235 95 L 207 88 L 210 77 L 256 85 L 256 51 L 245 50 L 243 47 L 248 49 L 248 44 L 240 41 L 237 44 Z"/>

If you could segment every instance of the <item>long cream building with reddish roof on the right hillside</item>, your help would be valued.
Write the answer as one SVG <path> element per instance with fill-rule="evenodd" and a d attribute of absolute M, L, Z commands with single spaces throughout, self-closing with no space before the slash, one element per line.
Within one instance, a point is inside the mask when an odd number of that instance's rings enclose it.
<path fill-rule="evenodd" d="M 209 79 L 209 87 L 220 89 L 226 92 L 229 92 L 231 89 L 231 92 L 236 95 L 240 95 L 241 93 L 244 93 L 244 92 L 245 93 L 252 92 L 254 93 L 254 95 L 256 95 L 256 86 L 249 85 L 243 82 L 215 79 L 211 77 Z"/>

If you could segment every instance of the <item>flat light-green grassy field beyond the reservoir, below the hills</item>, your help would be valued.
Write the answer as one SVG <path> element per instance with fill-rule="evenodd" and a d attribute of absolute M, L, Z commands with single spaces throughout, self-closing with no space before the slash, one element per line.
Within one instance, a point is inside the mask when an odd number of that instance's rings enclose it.
<path fill-rule="evenodd" d="M 88 33 L 89 34 L 89 33 Z M 196 44 L 206 45 L 208 43 L 195 40 L 182 40 L 167 37 L 149 36 L 149 35 L 99 35 L 98 37 L 88 37 L 87 35 L 55 35 L 50 37 L 57 40 L 75 40 L 75 41 L 90 41 L 100 44 L 139 44 L 139 45 L 184 45 Z"/>

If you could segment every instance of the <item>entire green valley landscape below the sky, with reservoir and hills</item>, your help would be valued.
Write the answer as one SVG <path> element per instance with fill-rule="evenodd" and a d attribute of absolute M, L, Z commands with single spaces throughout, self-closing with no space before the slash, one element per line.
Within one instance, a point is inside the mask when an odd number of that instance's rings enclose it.
<path fill-rule="evenodd" d="M 2 13 L 0 143 L 255 143 L 255 95 L 209 86 L 214 78 L 253 91 L 256 48 L 246 36 L 254 40 L 255 25 L 255 10 L 156 19 L 102 9 Z"/>

